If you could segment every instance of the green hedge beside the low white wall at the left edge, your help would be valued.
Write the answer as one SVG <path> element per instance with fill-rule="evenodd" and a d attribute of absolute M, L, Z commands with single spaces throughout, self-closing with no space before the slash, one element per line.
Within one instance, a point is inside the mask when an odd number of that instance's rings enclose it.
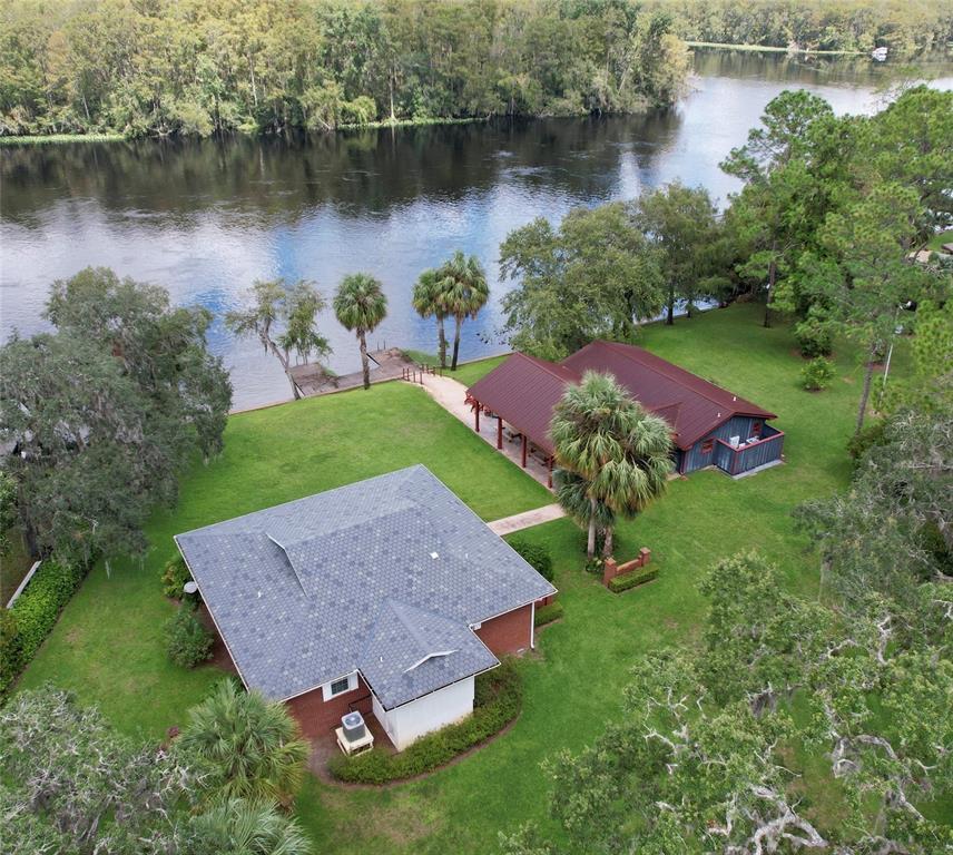
<path fill-rule="evenodd" d="M 39 650 L 86 571 L 83 564 L 46 560 L 17 598 L 0 632 L 0 697 Z"/>

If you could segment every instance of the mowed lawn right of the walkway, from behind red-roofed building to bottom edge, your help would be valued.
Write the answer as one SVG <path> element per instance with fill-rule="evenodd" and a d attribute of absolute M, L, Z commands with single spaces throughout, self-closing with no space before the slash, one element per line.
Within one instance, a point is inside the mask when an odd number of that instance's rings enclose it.
<path fill-rule="evenodd" d="M 815 593 L 817 561 L 795 533 L 790 511 L 846 487 L 845 444 L 862 368 L 854 348 L 841 343 L 832 389 L 804 392 L 798 385 L 804 361 L 789 327 L 765 330 L 760 318 L 760 307 L 735 306 L 679 320 L 674 327 L 652 325 L 640 343 L 777 412 L 776 424 L 786 433 L 786 465 L 738 481 L 698 472 L 671 482 L 660 502 L 620 528 L 617 557 L 649 547 L 661 569 L 657 581 L 622 594 L 609 593 L 583 572 L 584 540 L 568 520 L 520 532 L 552 549 L 566 608 L 562 621 L 542 629 L 538 655 L 521 664 L 525 704 L 520 719 L 465 761 L 420 782 L 354 790 L 310 780 L 298 816 L 322 852 L 494 852 L 500 831 L 527 820 L 558 837 L 547 817 L 548 783 L 540 764 L 557 750 L 578 750 L 619 715 L 635 657 L 698 640 L 706 605 L 697 584 L 708 568 L 756 549 L 782 569 L 793 589 Z M 903 372 L 903 355 L 895 365 Z M 468 367 L 465 382 L 472 383 L 480 365 Z"/>

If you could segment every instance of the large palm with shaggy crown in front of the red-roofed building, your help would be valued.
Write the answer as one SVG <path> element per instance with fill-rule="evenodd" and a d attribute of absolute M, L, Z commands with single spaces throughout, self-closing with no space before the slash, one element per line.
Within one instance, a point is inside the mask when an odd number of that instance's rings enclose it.
<path fill-rule="evenodd" d="M 559 465 L 583 484 L 564 487 L 567 511 L 576 519 L 578 493 L 589 500 L 587 554 L 596 554 L 596 530 L 605 505 L 611 514 L 635 517 L 665 492 L 671 471 L 668 423 L 629 397 L 611 374 L 588 371 L 568 386 L 553 409 L 550 435 Z M 603 554 L 612 554 L 615 519 L 605 524 Z"/>

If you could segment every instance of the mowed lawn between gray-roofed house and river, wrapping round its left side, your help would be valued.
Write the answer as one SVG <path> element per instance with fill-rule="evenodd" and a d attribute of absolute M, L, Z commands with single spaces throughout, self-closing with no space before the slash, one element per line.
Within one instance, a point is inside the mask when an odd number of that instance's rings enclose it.
<path fill-rule="evenodd" d="M 70 601 L 21 686 L 51 680 L 96 701 L 129 733 L 160 737 L 220 677 L 166 658 L 173 606 L 159 576 L 173 535 L 219 520 L 423 463 L 480 517 L 493 520 L 551 501 L 549 493 L 444 413 L 423 390 L 372 386 L 235 415 L 225 451 L 183 479 L 175 511 L 148 525 L 145 561 L 100 562 Z"/>

